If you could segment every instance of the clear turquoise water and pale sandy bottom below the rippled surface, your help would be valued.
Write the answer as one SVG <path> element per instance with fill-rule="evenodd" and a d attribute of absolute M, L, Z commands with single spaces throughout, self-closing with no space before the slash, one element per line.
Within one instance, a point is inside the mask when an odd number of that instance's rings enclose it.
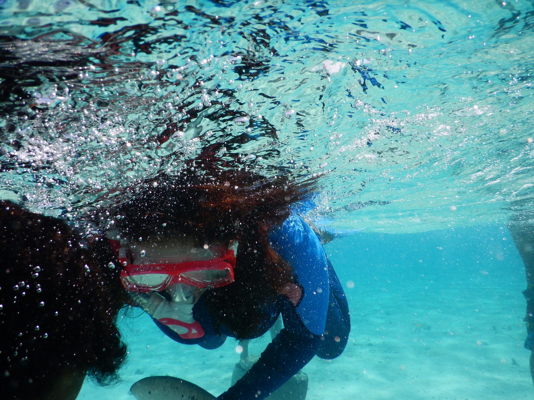
<path fill-rule="evenodd" d="M 359 234 L 325 246 L 349 299 L 344 353 L 304 367 L 308 400 L 532 398 L 523 347 L 523 263 L 506 228 L 423 234 Z M 180 345 L 141 313 L 120 318 L 129 346 L 123 381 L 87 380 L 78 399 L 134 400 L 150 375 L 190 380 L 214 395 L 230 385 L 238 343 L 215 350 Z M 269 335 L 253 341 L 259 354 Z"/>

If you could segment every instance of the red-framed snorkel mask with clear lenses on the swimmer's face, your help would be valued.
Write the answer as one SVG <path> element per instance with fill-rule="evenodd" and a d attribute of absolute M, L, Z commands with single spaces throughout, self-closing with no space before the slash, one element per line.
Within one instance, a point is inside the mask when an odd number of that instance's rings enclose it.
<path fill-rule="evenodd" d="M 172 283 L 187 283 L 203 289 L 221 287 L 234 281 L 235 255 L 232 249 L 226 249 L 222 257 L 209 260 L 183 262 L 155 260 L 153 263 L 146 262 L 139 265 L 131 262 L 128 243 L 121 243 L 114 232 L 108 232 L 107 236 L 123 267 L 121 282 L 127 290 L 143 293 L 159 292 Z"/>

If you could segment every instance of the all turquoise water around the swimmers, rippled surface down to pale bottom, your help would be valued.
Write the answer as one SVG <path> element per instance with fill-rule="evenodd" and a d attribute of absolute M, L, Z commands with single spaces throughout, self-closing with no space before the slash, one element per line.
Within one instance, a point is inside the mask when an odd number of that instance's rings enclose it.
<path fill-rule="evenodd" d="M 531 396 L 504 226 L 532 219 L 533 24 L 515 0 L 0 0 L 0 197 L 76 222 L 207 162 L 320 174 L 313 217 L 365 230 L 326 245 L 354 344 L 306 367 L 309 398 Z M 81 397 L 229 385 L 235 343 L 123 323 L 124 383 Z"/>

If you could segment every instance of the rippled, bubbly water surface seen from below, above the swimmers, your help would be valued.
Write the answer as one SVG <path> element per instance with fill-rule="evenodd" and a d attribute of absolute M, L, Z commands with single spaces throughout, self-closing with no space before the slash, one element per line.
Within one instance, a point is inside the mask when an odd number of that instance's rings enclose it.
<path fill-rule="evenodd" d="M 340 227 L 532 207 L 534 2 L 0 0 L 4 198 L 75 218 L 203 164 L 323 174 Z"/>

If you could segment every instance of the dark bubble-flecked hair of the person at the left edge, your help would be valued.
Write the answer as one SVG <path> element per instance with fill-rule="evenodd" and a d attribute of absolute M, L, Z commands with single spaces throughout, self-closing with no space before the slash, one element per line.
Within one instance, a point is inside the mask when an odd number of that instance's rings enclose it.
<path fill-rule="evenodd" d="M 2 398 L 41 398 L 69 369 L 118 378 L 127 295 L 107 241 L 88 247 L 64 221 L 0 201 Z"/>

